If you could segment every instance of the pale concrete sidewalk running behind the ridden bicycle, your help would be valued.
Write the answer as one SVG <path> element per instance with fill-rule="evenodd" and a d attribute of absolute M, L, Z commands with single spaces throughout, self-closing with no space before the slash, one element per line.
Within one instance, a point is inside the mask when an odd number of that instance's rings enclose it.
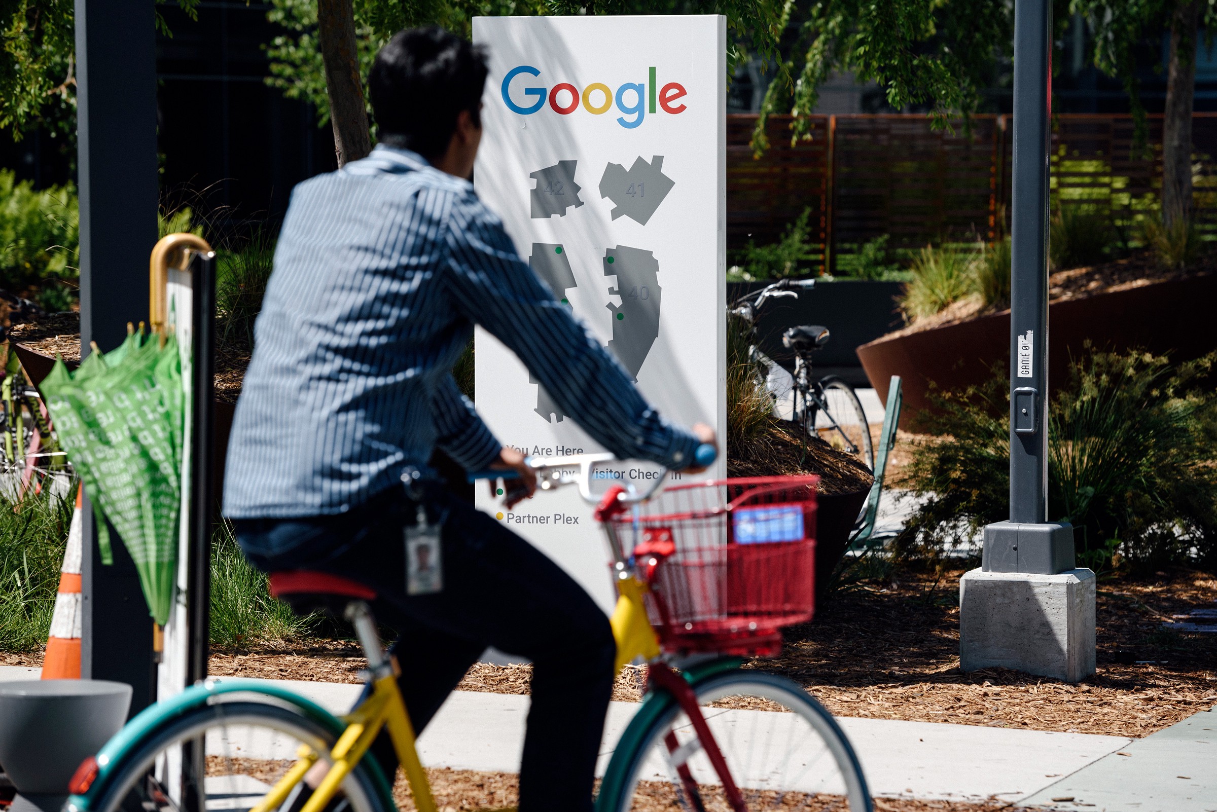
<path fill-rule="evenodd" d="M 37 669 L 0 667 L 0 680 L 28 680 L 37 673 Z M 360 692 L 360 686 L 352 684 L 273 682 L 336 714 L 348 710 Z M 528 697 L 452 694 L 419 739 L 422 761 L 456 769 L 518 772 L 528 706 Z M 600 771 L 638 707 L 634 703 L 610 706 Z M 719 729 L 753 731 L 780 728 L 791 718 L 719 710 L 711 723 Z M 997 796 L 1044 808 L 1095 812 L 1217 811 L 1217 712 L 1199 714 L 1139 740 L 931 722 L 839 721 L 876 796 Z M 1072 800 L 1051 800 L 1058 797 Z"/>

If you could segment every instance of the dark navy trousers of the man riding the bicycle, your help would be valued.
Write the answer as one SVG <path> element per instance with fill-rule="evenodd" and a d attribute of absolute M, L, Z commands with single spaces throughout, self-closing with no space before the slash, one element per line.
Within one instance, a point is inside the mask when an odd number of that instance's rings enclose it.
<path fill-rule="evenodd" d="M 405 593 L 403 526 L 417 504 L 392 489 L 349 513 L 236 523 L 241 548 L 267 573 L 318 569 L 376 590 L 376 619 L 399 631 L 398 684 L 421 733 L 478 655 L 493 645 L 533 661 L 520 767 L 520 808 L 590 812 L 591 780 L 616 653 L 608 619 L 553 560 L 492 517 L 427 489 L 443 519 L 443 592 Z M 588 540 L 593 543 L 594 540 Z M 392 776 L 387 735 L 372 752 Z"/>

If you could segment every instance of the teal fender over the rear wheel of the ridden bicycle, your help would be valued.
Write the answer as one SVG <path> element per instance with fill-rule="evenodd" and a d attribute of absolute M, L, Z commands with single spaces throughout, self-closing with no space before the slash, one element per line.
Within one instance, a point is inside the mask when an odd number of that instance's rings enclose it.
<path fill-rule="evenodd" d="M 95 756 L 97 760 L 97 777 L 94 778 L 88 793 L 68 797 L 67 812 L 88 812 L 92 806 L 92 801 L 105 794 L 127 754 L 138 749 L 150 737 L 159 732 L 161 728 L 176 722 L 198 707 L 212 704 L 217 697 L 232 693 L 254 693 L 287 703 L 298 709 L 304 716 L 320 723 L 335 737 L 341 735 L 342 731 L 346 729 L 346 724 L 338 717 L 313 700 L 305 699 L 265 680 L 242 680 L 237 677 L 204 680 L 186 688 L 176 697 L 148 705 L 127 722 L 123 729 L 111 737 Z M 374 767 L 376 766 L 374 765 Z M 380 769 L 376 768 L 376 772 L 380 773 Z M 381 779 L 383 780 L 383 776 L 381 776 Z"/>

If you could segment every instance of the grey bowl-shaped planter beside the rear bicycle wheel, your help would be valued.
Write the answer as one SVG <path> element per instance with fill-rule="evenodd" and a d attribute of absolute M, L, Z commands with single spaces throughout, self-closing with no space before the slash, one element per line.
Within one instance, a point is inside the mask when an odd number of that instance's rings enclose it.
<path fill-rule="evenodd" d="M 131 687 L 101 680 L 0 682 L 0 765 L 11 812 L 57 812 L 80 762 L 123 727 Z"/>

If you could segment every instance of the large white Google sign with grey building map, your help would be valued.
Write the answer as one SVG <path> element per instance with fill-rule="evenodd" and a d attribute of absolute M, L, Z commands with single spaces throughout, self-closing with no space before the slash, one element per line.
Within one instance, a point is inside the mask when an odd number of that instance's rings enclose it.
<path fill-rule="evenodd" d="M 725 18 L 477 17 L 473 41 L 490 62 L 477 193 L 666 418 L 723 436 Z M 527 455 L 601 450 L 482 329 L 476 395 L 490 429 Z M 654 475 L 622 467 L 630 472 L 640 486 Z M 723 461 L 711 470 L 724 473 Z M 512 511 L 484 486 L 477 500 L 612 607 L 606 553 L 577 492 Z"/>

